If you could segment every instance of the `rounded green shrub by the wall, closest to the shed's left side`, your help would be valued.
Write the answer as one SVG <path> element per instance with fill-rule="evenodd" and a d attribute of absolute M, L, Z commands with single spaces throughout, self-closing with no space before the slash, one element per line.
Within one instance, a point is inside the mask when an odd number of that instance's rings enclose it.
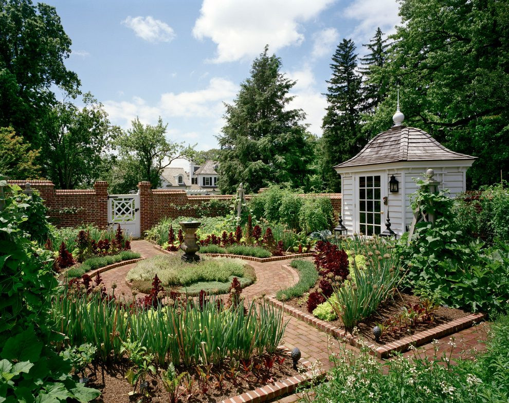
<path fill-rule="evenodd" d="M 328 197 L 306 197 L 299 211 L 299 226 L 305 233 L 331 229 L 334 214 Z"/>

